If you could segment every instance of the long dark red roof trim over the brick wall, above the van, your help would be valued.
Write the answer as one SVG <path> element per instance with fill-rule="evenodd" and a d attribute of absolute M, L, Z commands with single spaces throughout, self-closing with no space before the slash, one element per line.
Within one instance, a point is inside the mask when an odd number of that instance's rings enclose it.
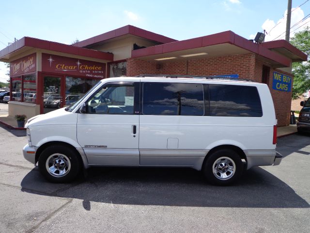
<path fill-rule="evenodd" d="M 246 38 L 243 38 L 232 31 L 226 31 L 222 33 L 216 33 L 212 35 L 206 35 L 194 39 L 189 40 L 182 40 L 176 41 L 164 45 L 157 45 L 152 46 L 140 50 L 132 50 L 131 57 L 132 58 L 139 58 L 143 56 L 150 56 L 155 54 L 161 54 L 166 52 L 172 51 L 179 51 L 179 50 L 188 50 L 188 49 L 195 49 L 200 47 L 206 47 L 211 45 L 218 45 L 229 43 L 235 46 L 238 46 L 242 49 L 248 50 L 250 52 L 259 54 L 265 58 L 271 59 L 276 61 L 286 67 L 290 67 L 291 59 L 280 55 L 276 52 L 268 50 L 267 48 L 263 47 L 260 44 L 255 44 Z M 299 51 L 299 50 L 298 50 Z"/>

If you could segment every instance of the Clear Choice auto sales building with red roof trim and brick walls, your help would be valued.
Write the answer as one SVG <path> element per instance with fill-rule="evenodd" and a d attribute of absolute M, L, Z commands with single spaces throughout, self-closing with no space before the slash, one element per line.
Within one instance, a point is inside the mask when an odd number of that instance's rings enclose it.
<path fill-rule="evenodd" d="M 10 116 L 30 118 L 63 107 L 104 78 L 173 74 L 266 83 L 278 126 L 285 126 L 292 62 L 307 61 L 307 55 L 285 40 L 259 44 L 231 31 L 178 41 L 127 25 L 74 45 L 23 37 L 0 51 L 0 61 L 10 62 Z M 49 100 L 58 100 L 56 106 Z"/>

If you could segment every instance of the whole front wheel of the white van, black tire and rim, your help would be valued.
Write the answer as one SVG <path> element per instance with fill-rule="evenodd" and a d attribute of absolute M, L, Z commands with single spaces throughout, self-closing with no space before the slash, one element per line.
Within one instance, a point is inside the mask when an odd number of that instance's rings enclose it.
<path fill-rule="evenodd" d="M 41 174 L 53 183 L 68 183 L 74 180 L 81 170 L 77 152 L 62 145 L 44 149 L 38 164 Z"/>

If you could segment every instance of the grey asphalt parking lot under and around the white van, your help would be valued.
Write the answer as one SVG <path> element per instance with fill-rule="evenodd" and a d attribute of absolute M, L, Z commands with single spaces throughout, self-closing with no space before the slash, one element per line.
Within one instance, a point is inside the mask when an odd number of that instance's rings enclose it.
<path fill-rule="evenodd" d="M 0 135 L 0 232 L 310 232 L 309 135 L 279 138 L 279 166 L 228 187 L 171 168 L 91 168 L 47 183 L 23 159 L 26 137 Z"/>

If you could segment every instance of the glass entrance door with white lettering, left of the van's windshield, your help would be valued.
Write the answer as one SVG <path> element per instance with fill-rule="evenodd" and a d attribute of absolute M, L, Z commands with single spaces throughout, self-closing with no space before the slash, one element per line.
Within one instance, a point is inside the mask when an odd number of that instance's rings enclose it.
<path fill-rule="evenodd" d="M 62 90 L 62 76 L 43 76 L 43 96 L 41 101 L 41 113 L 48 113 L 63 107 Z"/>

